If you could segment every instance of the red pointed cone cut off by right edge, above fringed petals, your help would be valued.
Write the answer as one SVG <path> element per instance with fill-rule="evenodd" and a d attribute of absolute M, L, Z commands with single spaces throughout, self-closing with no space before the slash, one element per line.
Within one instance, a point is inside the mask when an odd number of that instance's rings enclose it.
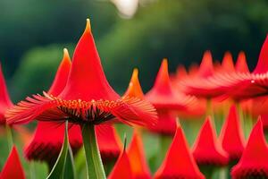
<path fill-rule="evenodd" d="M 258 73 L 265 73 L 268 72 L 268 35 L 266 36 L 264 40 L 263 47 L 261 49 L 258 63 L 255 66 L 255 70 L 253 71 L 254 74 Z"/>

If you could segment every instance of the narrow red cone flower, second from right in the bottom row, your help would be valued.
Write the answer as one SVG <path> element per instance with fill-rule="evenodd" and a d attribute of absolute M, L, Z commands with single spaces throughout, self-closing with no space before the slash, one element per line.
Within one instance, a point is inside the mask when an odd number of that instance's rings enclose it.
<path fill-rule="evenodd" d="M 240 126 L 235 106 L 230 107 L 229 115 L 222 126 L 222 148 L 229 153 L 230 159 L 237 160 L 245 148 L 245 138 Z"/>

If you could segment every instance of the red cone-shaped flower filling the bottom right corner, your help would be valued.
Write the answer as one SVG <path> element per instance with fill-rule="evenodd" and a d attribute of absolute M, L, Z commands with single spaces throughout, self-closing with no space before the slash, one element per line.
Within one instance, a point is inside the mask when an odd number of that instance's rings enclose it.
<path fill-rule="evenodd" d="M 250 133 L 239 163 L 231 169 L 231 176 L 239 178 L 268 177 L 268 148 L 264 138 L 263 123 L 259 118 Z"/>

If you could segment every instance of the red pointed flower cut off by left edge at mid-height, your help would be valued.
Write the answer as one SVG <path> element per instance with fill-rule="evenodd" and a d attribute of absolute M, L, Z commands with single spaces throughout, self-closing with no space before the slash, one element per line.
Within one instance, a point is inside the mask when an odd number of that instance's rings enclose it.
<path fill-rule="evenodd" d="M 9 98 L 4 81 L 4 75 L 2 72 L 2 66 L 0 65 L 0 124 L 5 124 L 6 119 L 4 117 L 4 114 L 6 112 L 6 109 L 10 107 L 13 107 L 13 103 Z"/>

